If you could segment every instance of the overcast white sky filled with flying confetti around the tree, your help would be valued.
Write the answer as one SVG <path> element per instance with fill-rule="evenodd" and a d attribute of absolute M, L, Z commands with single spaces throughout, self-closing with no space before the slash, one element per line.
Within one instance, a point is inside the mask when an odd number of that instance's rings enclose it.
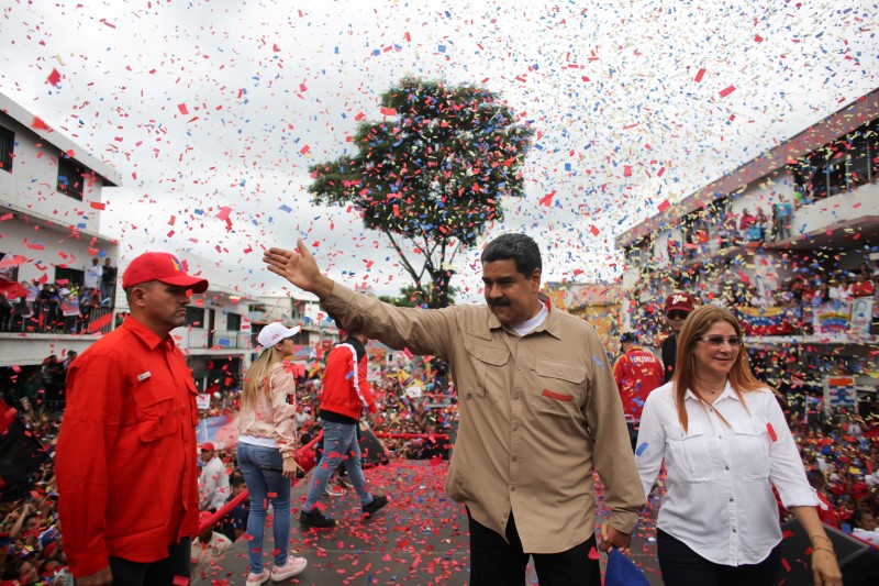
<path fill-rule="evenodd" d="M 408 280 L 385 237 L 312 206 L 308 166 L 351 152 L 355 118 L 379 120 L 405 75 L 482 84 L 539 133 L 526 196 L 486 239 L 524 231 L 545 280 L 607 281 L 616 234 L 879 87 L 877 14 L 868 0 L 7 1 L 0 91 L 122 175 L 101 232 L 123 267 L 169 251 L 216 285 L 279 294 L 259 251 L 301 235 L 332 277 L 396 294 Z M 455 262 L 464 299 L 478 255 Z"/>

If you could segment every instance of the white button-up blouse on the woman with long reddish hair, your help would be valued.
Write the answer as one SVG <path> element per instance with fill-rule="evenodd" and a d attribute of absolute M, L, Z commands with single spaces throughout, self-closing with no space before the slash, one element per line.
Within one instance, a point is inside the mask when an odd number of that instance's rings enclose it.
<path fill-rule="evenodd" d="M 688 390 L 685 432 L 672 384 L 659 387 L 644 403 L 635 452 L 645 495 L 663 463 L 668 472 L 657 528 L 732 566 L 764 561 L 781 540 L 771 485 L 788 508 L 819 504 L 775 395 L 742 396 L 747 410 L 728 383 L 712 406 Z"/>

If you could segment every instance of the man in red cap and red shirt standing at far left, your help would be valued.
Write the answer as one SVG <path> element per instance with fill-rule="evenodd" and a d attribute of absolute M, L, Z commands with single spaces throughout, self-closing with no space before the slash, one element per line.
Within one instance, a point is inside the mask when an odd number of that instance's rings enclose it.
<path fill-rule="evenodd" d="M 189 576 L 198 534 L 196 385 L 170 331 L 208 281 L 170 254 L 145 253 L 122 287 L 130 314 L 67 375 L 55 466 L 78 586 L 170 585 Z"/>

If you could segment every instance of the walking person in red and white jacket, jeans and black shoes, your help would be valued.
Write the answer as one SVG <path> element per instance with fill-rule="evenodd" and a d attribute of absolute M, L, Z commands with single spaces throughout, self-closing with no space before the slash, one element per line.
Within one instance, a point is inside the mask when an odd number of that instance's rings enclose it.
<path fill-rule="evenodd" d="M 336 522 L 316 508 L 326 489 L 326 484 L 340 463 L 345 463 L 360 508 L 370 517 L 388 504 L 383 495 L 369 493 L 360 462 L 360 445 L 357 442 L 357 423 L 364 407 L 375 413 L 376 402 L 366 382 L 366 344 L 369 339 L 361 333 L 349 333 L 344 342 L 336 344 L 326 357 L 321 392 L 320 418 L 323 424 L 323 458 L 314 468 L 305 506 L 299 513 L 299 522 L 308 527 L 335 527 Z"/>

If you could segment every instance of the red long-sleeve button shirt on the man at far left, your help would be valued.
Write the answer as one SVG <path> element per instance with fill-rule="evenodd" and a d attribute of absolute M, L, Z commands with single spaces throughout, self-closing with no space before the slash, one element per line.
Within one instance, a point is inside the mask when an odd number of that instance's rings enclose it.
<path fill-rule="evenodd" d="M 196 386 L 183 354 L 131 317 L 67 375 L 55 468 L 74 576 L 167 557 L 198 533 Z"/>

